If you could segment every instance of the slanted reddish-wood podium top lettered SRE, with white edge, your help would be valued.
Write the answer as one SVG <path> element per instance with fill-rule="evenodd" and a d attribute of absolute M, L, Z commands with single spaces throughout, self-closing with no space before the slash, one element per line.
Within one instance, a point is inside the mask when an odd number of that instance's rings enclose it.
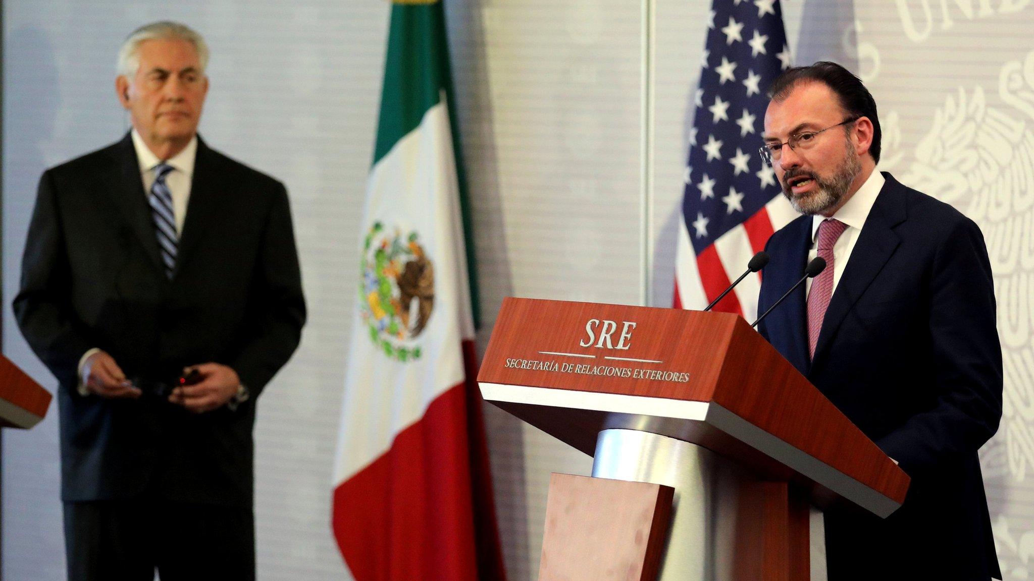
<path fill-rule="evenodd" d="M 507 298 L 485 399 L 591 455 L 602 429 L 692 441 L 880 516 L 909 477 L 752 329 L 720 312 Z"/>

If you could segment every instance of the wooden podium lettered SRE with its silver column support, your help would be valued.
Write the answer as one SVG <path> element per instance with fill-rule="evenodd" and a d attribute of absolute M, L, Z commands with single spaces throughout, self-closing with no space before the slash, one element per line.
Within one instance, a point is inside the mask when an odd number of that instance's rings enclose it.
<path fill-rule="evenodd" d="M 591 455 L 594 477 L 674 489 L 663 581 L 824 577 L 818 510 L 886 517 L 909 486 L 734 314 L 508 298 L 478 383 Z"/>

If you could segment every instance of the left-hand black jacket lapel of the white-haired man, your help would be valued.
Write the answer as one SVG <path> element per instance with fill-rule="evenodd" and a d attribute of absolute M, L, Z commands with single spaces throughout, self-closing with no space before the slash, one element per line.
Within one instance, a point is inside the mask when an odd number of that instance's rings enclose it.
<path fill-rule="evenodd" d="M 144 194 L 144 180 L 140 175 L 140 162 L 129 133 L 119 143 L 117 159 L 107 170 L 111 174 L 101 183 L 112 184 L 112 196 L 123 218 L 144 245 L 144 250 L 156 269 L 161 269 L 158 256 L 158 239 L 151 221 L 151 207 Z"/>

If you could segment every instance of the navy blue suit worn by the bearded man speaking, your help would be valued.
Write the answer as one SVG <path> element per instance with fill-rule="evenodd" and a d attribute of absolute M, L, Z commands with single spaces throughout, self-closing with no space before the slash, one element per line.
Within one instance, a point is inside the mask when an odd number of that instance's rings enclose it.
<path fill-rule="evenodd" d="M 803 285 L 761 334 L 912 478 L 886 520 L 826 513 L 830 581 L 1001 577 L 977 450 L 1002 415 L 979 227 L 889 174 L 833 292 L 814 361 Z M 804 273 L 812 217 L 769 239 L 758 311 Z"/>

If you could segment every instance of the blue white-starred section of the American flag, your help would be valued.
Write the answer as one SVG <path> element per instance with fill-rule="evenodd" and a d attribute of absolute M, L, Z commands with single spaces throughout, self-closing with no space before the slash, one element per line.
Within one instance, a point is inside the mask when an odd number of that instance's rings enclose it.
<path fill-rule="evenodd" d="M 779 1 L 713 0 L 707 16 L 682 186 L 682 223 L 698 255 L 780 195 L 774 172 L 757 155 L 764 89 L 790 62 L 781 19 L 768 16 L 779 17 Z"/>

